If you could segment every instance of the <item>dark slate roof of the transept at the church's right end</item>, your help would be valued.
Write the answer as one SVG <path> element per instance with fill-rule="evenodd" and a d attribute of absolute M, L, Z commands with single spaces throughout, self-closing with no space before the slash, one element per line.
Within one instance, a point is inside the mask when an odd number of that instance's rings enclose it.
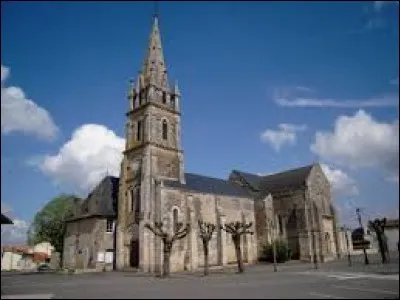
<path fill-rule="evenodd" d="M 262 193 L 273 193 L 284 188 L 296 188 L 304 185 L 313 166 L 314 165 L 308 165 L 266 176 L 259 176 L 238 170 L 234 170 L 233 172 L 243 178 L 256 190 Z"/>

